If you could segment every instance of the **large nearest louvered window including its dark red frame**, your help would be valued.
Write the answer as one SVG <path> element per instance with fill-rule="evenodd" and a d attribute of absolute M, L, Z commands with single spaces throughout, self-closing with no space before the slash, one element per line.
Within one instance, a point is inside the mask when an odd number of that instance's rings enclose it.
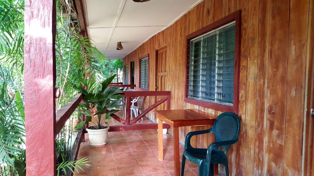
<path fill-rule="evenodd" d="M 201 29 L 202 34 L 189 35 L 185 101 L 237 113 L 239 25 L 238 18 L 229 18 L 215 22 L 215 27 L 208 25 L 207 32 Z"/>

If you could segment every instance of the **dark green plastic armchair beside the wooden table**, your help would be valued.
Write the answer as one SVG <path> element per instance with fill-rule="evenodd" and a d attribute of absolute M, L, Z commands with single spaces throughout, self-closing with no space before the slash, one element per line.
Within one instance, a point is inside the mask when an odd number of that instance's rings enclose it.
<path fill-rule="evenodd" d="M 198 164 L 199 176 L 214 176 L 214 164 L 223 164 L 226 169 L 226 176 L 229 176 L 227 151 L 231 144 L 238 141 L 239 131 L 240 123 L 236 114 L 224 112 L 217 117 L 212 128 L 203 131 L 189 132 L 185 137 L 181 176 L 184 175 L 186 158 Z M 214 133 L 215 142 L 211 143 L 207 149 L 193 148 L 191 146 L 191 137 L 206 133 Z M 224 151 L 217 147 L 222 147 Z"/>

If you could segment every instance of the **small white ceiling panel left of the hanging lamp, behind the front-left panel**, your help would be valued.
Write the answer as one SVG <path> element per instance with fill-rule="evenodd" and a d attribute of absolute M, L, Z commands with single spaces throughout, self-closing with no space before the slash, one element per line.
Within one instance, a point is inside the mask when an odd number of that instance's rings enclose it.
<path fill-rule="evenodd" d="M 107 43 L 112 28 L 89 28 L 89 37 L 95 43 Z"/>

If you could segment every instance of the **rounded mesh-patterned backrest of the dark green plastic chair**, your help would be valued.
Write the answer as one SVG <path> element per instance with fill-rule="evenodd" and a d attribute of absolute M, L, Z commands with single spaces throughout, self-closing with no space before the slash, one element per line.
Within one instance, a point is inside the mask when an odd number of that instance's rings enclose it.
<path fill-rule="evenodd" d="M 215 134 L 215 142 L 220 141 L 238 141 L 240 122 L 236 114 L 232 112 L 224 112 L 220 114 L 214 122 L 213 131 Z M 234 142 L 234 143 L 235 143 Z M 230 145 L 224 146 L 225 153 Z"/>

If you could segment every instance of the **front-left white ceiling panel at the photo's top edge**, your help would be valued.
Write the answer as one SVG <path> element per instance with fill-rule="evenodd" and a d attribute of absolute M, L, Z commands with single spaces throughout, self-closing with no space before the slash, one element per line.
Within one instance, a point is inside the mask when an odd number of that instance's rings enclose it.
<path fill-rule="evenodd" d="M 113 27 L 122 0 L 86 0 L 88 27 Z"/>

